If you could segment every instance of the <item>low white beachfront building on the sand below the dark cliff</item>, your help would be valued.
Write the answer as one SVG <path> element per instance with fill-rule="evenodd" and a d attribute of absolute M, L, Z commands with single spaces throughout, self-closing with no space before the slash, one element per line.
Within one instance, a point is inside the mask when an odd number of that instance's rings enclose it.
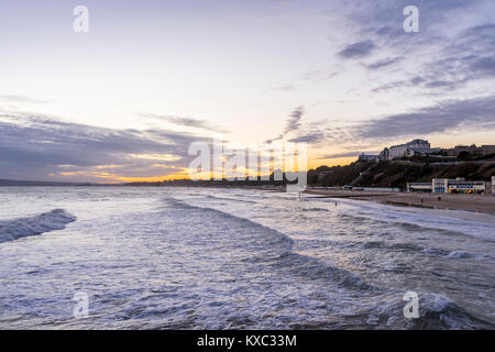
<path fill-rule="evenodd" d="M 407 191 L 418 193 L 433 193 L 433 194 L 484 194 L 486 183 L 482 180 L 465 180 L 458 177 L 455 179 L 449 178 L 433 178 L 431 183 L 409 183 L 407 184 Z M 492 187 L 492 191 L 493 187 Z"/>

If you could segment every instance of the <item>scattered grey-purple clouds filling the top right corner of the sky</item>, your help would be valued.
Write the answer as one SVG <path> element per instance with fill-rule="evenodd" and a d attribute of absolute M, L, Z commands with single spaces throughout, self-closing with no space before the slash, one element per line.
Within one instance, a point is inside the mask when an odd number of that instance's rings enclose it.
<path fill-rule="evenodd" d="M 370 88 L 358 82 L 361 89 L 398 92 L 405 88 L 409 96 L 466 97 L 465 90 L 494 79 L 492 0 L 417 0 L 414 6 L 419 9 L 419 33 L 403 30 L 403 9 L 408 4 L 405 0 L 332 4 L 343 23 L 334 41 L 345 41 L 337 58 L 355 59 L 373 74 L 373 79 L 366 81 L 372 82 Z M 362 62 L 377 54 L 378 47 L 382 59 Z M 387 75 L 378 74 L 392 67 Z"/>

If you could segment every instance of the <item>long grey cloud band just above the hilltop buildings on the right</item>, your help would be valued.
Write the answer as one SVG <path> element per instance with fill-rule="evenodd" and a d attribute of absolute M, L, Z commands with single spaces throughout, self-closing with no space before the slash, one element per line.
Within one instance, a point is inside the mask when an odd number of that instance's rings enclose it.
<path fill-rule="evenodd" d="M 354 125 L 329 127 L 311 124 L 299 130 L 289 142 L 306 142 L 327 150 L 344 150 L 323 154 L 319 158 L 356 156 L 363 151 L 376 150 L 384 143 L 404 138 L 425 138 L 432 133 L 449 133 L 459 128 L 491 130 L 495 128 L 495 97 L 464 100 L 444 100 L 404 113 L 383 116 L 380 119 Z M 318 147 L 318 150 L 320 150 Z"/>

